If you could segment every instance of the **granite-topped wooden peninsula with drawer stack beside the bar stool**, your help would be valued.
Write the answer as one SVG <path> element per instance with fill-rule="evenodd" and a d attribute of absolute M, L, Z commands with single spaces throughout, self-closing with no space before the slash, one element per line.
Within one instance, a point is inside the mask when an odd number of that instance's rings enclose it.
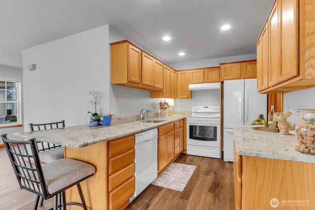
<path fill-rule="evenodd" d="M 64 157 L 92 164 L 96 172 L 81 182 L 89 209 L 118 210 L 129 204 L 134 193 L 134 134 L 185 119 L 186 116 L 159 118 L 158 123 L 132 121 L 111 126 L 79 125 L 50 130 L 15 133 L 14 136 L 64 146 Z M 77 189 L 65 192 L 68 202 L 80 201 Z M 80 207 L 67 207 L 81 210 Z"/>

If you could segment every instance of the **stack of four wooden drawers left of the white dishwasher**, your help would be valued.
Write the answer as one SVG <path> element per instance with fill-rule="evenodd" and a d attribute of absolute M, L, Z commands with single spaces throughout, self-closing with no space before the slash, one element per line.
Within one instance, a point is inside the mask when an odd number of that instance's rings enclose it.
<path fill-rule="evenodd" d="M 109 210 L 124 209 L 134 193 L 134 135 L 107 142 Z"/>

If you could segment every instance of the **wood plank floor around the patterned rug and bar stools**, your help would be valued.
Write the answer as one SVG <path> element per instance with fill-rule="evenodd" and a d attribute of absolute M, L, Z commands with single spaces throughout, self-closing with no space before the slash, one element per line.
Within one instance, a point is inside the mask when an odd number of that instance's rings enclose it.
<path fill-rule="evenodd" d="M 125 210 L 234 210 L 232 163 L 186 154 L 175 162 L 197 166 L 183 192 L 150 185 Z M 35 196 L 21 190 L 4 147 L 0 169 L 0 210 L 32 210 Z M 52 206 L 49 199 L 38 209 Z"/>

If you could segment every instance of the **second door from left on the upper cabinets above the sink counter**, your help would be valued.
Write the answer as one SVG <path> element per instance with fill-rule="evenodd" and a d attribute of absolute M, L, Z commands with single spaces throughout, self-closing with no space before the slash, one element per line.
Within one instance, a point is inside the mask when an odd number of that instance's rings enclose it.
<path fill-rule="evenodd" d="M 155 59 L 142 52 L 142 85 L 154 87 L 154 65 Z"/>

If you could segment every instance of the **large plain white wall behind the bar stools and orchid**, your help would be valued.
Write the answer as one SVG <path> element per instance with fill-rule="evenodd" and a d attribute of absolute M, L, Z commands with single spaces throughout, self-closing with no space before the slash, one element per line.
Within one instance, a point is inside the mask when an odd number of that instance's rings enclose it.
<path fill-rule="evenodd" d="M 89 91 L 100 92 L 97 106 L 109 112 L 109 27 L 87 30 L 23 51 L 24 122 L 65 120 L 88 124 L 94 106 Z M 35 71 L 28 65 L 36 64 Z M 25 131 L 29 128 L 25 127 Z"/>

